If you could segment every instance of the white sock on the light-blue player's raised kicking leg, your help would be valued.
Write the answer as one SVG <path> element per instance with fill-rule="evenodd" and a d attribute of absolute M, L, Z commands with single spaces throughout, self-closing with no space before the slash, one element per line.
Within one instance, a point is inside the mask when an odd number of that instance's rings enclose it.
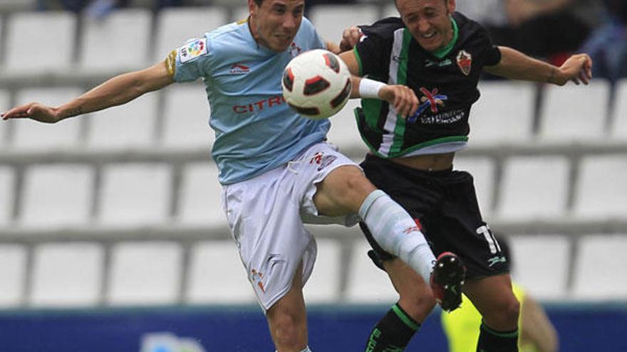
<path fill-rule="evenodd" d="M 429 283 L 435 256 L 425 236 L 403 207 L 385 192 L 376 190 L 363 201 L 359 215 L 378 245 L 399 257 Z"/>

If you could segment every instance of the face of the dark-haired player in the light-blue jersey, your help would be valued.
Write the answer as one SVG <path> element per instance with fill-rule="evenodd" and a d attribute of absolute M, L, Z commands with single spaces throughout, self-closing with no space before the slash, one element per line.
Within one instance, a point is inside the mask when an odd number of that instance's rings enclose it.
<path fill-rule="evenodd" d="M 249 0 L 248 5 L 255 40 L 277 53 L 287 50 L 301 26 L 305 1 L 264 0 L 258 6 L 254 0 Z"/>

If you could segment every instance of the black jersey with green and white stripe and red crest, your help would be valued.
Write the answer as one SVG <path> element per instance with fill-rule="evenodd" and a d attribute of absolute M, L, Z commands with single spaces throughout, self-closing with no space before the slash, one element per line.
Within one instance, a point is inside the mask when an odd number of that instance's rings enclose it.
<path fill-rule="evenodd" d="M 364 142 L 389 158 L 463 149 L 468 140 L 470 106 L 479 99 L 477 82 L 484 65 L 501 60 L 487 31 L 460 13 L 452 14 L 453 40 L 434 53 L 424 50 L 400 18 L 360 26 L 354 48 L 362 76 L 407 85 L 420 99 L 418 112 L 404 119 L 387 102 L 363 99 L 356 109 Z"/>

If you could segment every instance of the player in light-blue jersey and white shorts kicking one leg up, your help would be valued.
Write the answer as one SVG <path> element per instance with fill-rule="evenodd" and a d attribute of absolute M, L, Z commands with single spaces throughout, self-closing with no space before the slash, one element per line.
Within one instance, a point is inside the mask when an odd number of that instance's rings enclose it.
<path fill-rule="evenodd" d="M 325 142 L 328 120 L 305 119 L 282 99 L 281 75 L 291 58 L 338 47 L 323 42 L 303 18 L 304 0 L 248 4 L 247 20 L 188 41 L 162 63 L 118 75 L 59 107 L 33 102 L 2 117 L 55 123 L 202 78 L 212 108 L 212 156 L 224 188 L 224 211 L 277 351 L 309 351 L 302 287 L 314 266 L 316 242 L 304 223 L 361 220 L 385 250 L 432 279 L 437 292 L 458 299 L 459 292 L 446 289 L 463 279 L 456 257 L 436 262 L 413 218 Z M 353 78 L 353 97 L 385 100 L 404 115 L 418 107 L 408 87 L 360 90 L 360 83 Z"/>

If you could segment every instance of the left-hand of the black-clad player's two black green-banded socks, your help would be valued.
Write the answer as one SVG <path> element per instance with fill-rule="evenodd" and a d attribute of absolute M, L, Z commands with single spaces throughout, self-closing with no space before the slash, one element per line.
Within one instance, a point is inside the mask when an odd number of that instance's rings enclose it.
<path fill-rule="evenodd" d="M 401 352 L 418 329 L 420 324 L 398 304 L 394 304 L 371 332 L 366 343 L 366 352 Z"/>

